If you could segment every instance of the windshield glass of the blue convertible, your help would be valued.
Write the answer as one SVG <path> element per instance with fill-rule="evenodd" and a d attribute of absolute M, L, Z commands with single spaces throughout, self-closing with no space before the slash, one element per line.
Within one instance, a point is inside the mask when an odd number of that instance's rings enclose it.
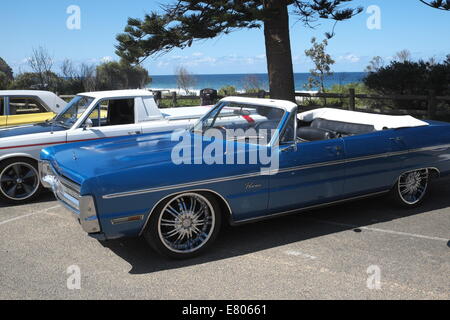
<path fill-rule="evenodd" d="M 226 140 L 257 141 L 267 144 L 278 129 L 285 111 L 269 106 L 222 102 L 193 127 L 194 133 Z"/>

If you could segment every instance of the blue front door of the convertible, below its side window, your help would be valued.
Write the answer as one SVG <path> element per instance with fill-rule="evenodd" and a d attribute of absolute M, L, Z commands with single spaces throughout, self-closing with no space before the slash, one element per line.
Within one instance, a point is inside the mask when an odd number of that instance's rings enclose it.
<path fill-rule="evenodd" d="M 279 172 L 270 176 L 271 213 L 308 207 L 340 198 L 344 191 L 342 139 L 281 147 Z"/>

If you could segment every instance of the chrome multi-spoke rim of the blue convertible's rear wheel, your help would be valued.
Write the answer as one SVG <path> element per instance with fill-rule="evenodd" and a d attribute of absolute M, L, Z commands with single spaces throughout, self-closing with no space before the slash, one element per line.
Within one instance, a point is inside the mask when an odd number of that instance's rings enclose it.
<path fill-rule="evenodd" d="M 407 205 L 419 203 L 428 189 L 429 171 L 422 169 L 403 174 L 398 181 L 398 195 Z"/>

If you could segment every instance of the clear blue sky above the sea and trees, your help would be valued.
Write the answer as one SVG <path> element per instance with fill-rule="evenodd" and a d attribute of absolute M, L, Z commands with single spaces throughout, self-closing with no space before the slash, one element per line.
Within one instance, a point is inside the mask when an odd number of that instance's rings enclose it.
<path fill-rule="evenodd" d="M 118 59 L 115 36 L 123 31 L 127 17 L 143 17 L 167 0 L 3 0 L 0 11 L 0 57 L 15 72 L 27 71 L 26 59 L 33 48 L 45 47 L 55 61 L 99 63 Z M 69 30 L 66 13 L 70 5 L 81 9 L 81 29 Z M 381 9 L 381 29 L 370 30 L 370 14 L 361 13 L 336 27 L 328 51 L 336 60 L 334 71 L 363 71 L 375 55 L 389 60 L 402 49 L 414 58 L 442 59 L 450 54 L 450 12 L 428 8 L 418 0 L 354 0 L 352 5 Z M 309 29 L 291 16 L 292 55 L 295 72 L 307 72 L 311 63 L 304 56 L 310 39 L 323 38 L 333 23 L 321 21 Z M 267 71 L 262 30 L 242 30 L 217 39 L 195 42 L 191 48 L 149 58 L 144 66 L 151 75 L 173 74 L 184 65 L 196 74 L 264 73 Z"/>

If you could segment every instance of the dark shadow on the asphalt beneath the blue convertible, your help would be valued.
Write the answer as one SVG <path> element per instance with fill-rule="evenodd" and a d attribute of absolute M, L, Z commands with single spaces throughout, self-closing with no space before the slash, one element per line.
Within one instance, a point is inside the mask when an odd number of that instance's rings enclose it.
<path fill-rule="evenodd" d="M 212 248 L 199 257 L 184 261 L 159 256 L 142 238 L 112 240 L 102 244 L 131 264 L 130 274 L 184 268 L 342 231 L 354 230 L 364 237 L 366 231 L 359 229 L 361 227 L 449 207 L 449 180 L 437 182 L 432 189 L 427 201 L 413 209 L 396 208 L 385 197 L 379 197 L 239 227 L 225 227 Z"/>

